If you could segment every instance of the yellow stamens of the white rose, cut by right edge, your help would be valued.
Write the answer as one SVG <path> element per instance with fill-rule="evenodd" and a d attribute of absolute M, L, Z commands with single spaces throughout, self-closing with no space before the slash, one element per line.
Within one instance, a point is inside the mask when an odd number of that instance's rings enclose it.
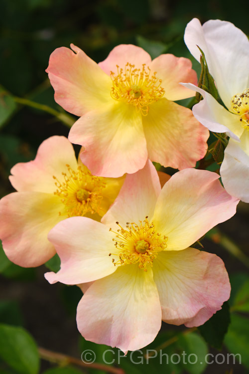
<path fill-rule="evenodd" d="M 249 88 L 232 97 L 230 111 L 239 114 L 242 127 L 249 130 Z"/>

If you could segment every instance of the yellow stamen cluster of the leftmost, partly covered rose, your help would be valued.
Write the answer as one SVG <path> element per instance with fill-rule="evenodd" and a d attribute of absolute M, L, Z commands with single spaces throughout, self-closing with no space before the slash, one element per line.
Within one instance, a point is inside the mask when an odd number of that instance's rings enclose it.
<path fill-rule="evenodd" d="M 70 165 L 66 167 L 68 173 L 62 173 L 63 182 L 55 176 L 53 179 L 57 187 L 54 194 L 59 196 L 66 206 L 68 217 L 85 215 L 88 212 L 98 213 L 103 197 L 102 190 L 106 185 L 103 178 L 93 176 L 84 166 L 78 166 L 77 171 L 72 170 Z"/>

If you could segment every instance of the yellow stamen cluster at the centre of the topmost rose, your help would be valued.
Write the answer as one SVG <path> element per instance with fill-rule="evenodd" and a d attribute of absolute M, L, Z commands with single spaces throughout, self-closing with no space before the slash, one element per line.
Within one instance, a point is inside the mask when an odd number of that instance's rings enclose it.
<path fill-rule="evenodd" d="M 137 69 L 135 65 L 127 62 L 124 69 L 117 65 L 117 70 L 116 75 L 111 71 L 112 98 L 134 105 L 142 115 L 146 116 L 149 104 L 163 97 L 165 93 L 164 88 L 161 87 L 162 80 L 156 76 L 156 72 L 151 75 L 150 68 L 146 64 L 142 64 L 142 68 Z"/>

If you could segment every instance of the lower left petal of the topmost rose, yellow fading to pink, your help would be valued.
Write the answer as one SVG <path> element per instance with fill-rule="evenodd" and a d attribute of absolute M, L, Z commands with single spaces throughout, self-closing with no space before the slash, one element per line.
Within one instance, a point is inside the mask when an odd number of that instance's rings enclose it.
<path fill-rule="evenodd" d="M 120 102 L 80 118 L 71 128 L 69 140 L 85 147 L 80 157 L 94 175 L 135 173 L 147 160 L 141 114 Z"/>

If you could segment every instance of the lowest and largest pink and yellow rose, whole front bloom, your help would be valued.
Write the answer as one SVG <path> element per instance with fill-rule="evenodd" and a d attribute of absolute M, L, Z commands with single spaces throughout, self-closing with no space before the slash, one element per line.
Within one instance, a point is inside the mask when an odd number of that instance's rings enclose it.
<path fill-rule="evenodd" d="M 148 161 L 127 175 L 102 223 L 72 217 L 50 231 L 61 269 L 45 277 L 85 283 L 77 324 L 86 340 L 140 349 L 161 320 L 199 326 L 229 299 L 223 261 L 190 246 L 234 215 L 237 203 L 208 171 L 183 170 L 161 189 Z"/>

